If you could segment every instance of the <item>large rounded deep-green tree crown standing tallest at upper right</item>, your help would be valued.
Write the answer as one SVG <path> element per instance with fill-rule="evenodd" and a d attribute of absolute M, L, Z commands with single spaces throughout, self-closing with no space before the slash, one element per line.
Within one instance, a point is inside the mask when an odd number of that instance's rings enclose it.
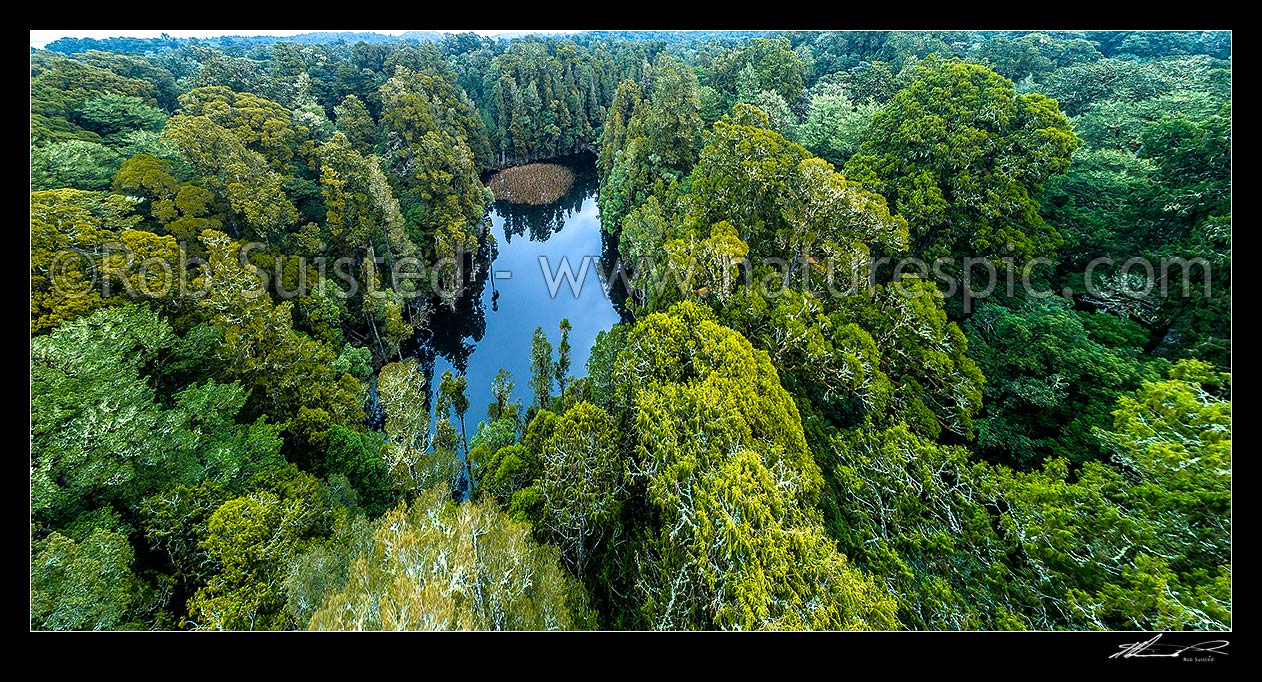
<path fill-rule="evenodd" d="M 988 68 L 929 59 L 873 119 L 846 174 L 883 194 L 923 259 L 1045 255 L 1060 234 L 1035 197 L 1082 144 L 1056 101 Z"/>

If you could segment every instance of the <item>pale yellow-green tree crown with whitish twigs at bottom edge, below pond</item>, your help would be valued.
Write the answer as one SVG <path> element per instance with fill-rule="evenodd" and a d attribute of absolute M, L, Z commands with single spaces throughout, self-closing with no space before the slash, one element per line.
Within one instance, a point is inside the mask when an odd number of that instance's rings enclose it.
<path fill-rule="evenodd" d="M 371 549 L 312 616 L 313 630 L 555 630 L 586 623 L 555 548 L 493 503 L 432 489 L 389 512 Z"/>

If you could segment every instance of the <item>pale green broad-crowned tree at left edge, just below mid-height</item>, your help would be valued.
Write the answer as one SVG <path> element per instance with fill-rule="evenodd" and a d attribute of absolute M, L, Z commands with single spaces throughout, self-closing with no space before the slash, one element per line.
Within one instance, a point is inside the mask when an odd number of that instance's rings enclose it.
<path fill-rule="evenodd" d="M 138 509 L 201 480 L 230 489 L 279 464 L 279 426 L 236 423 L 237 384 L 184 386 L 159 403 L 144 368 L 175 344 L 153 311 L 98 311 L 32 341 L 32 506 L 61 525 L 93 505 Z M 126 405 L 126 409 L 119 405 Z"/>

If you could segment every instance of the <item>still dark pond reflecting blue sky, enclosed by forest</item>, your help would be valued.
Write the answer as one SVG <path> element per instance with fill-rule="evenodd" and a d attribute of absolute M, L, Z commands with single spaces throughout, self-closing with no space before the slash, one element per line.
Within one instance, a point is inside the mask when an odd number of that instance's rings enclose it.
<path fill-rule="evenodd" d="M 617 280 L 612 292 L 607 290 L 602 278 L 602 273 L 613 272 L 617 254 L 597 215 L 594 157 L 550 163 L 563 163 L 574 172 L 570 191 L 546 206 L 495 202 L 491 268 L 471 284 L 456 311 L 442 308 L 434 316 L 434 336 L 416 349 L 423 366 L 432 362 L 432 395 L 437 395 L 444 370 L 467 376 L 471 440 L 476 424 L 486 418 L 491 380 L 501 368 L 512 373 L 514 399 L 530 405 L 530 341 L 536 327 L 548 335 L 555 359 L 559 323 L 569 318 L 570 374 L 578 378 L 587 374 L 596 335 L 621 318 L 626 292 Z M 565 279 L 567 272 L 572 280 Z M 549 280 L 554 290 L 549 290 Z"/>

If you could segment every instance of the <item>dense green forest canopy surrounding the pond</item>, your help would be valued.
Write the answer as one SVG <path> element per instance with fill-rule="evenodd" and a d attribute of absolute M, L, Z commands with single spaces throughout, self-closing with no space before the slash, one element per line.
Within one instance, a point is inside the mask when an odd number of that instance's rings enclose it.
<path fill-rule="evenodd" d="M 1230 88 L 1228 32 L 32 49 L 30 628 L 1230 629 Z M 440 371 L 496 206 L 583 186 L 621 321 Z"/>

